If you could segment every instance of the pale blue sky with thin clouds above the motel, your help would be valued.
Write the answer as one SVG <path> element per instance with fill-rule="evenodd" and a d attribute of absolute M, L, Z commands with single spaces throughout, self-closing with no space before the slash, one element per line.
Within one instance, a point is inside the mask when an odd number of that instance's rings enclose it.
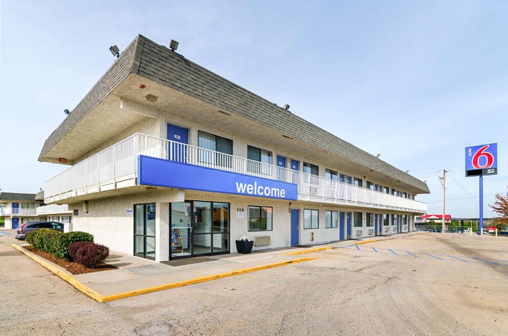
<path fill-rule="evenodd" d="M 2 1 L 0 185 L 36 192 L 66 168 L 44 140 L 138 33 L 427 180 L 475 216 L 464 147 L 498 143 L 485 211 L 508 185 L 508 2 Z M 463 198 L 465 199 L 453 199 Z"/>

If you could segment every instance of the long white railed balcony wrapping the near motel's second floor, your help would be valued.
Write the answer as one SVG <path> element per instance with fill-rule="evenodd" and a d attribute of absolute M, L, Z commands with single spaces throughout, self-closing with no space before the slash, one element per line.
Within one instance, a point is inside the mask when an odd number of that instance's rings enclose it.
<path fill-rule="evenodd" d="M 45 202 L 138 185 L 138 156 L 204 166 L 296 184 L 298 199 L 337 205 L 426 213 L 427 204 L 272 164 L 140 133 L 75 164 L 46 181 Z"/>

